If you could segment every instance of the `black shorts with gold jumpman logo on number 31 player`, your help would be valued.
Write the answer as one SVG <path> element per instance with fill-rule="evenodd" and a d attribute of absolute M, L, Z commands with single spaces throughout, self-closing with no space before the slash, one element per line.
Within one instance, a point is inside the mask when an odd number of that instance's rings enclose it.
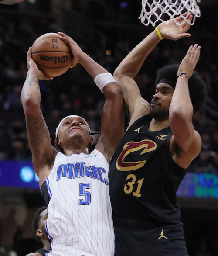
<path fill-rule="evenodd" d="M 114 227 L 115 256 L 188 256 L 183 224 L 149 230 Z"/>

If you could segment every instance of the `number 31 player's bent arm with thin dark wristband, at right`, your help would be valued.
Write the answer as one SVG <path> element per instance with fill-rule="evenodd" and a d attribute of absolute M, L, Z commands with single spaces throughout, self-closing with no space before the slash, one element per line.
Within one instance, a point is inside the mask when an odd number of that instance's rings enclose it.
<path fill-rule="evenodd" d="M 201 137 L 194 131 L 192 124 L 193 105 L 190 99 L 188 80 L 192 76 L 200 56 L 201 46 L 190 46 L 178 71 L 176 87 L 169 108 L 170 128 L 173 132 L 172 142 L 179 147 L 176 162 L 187 168 L 201 150 Z M 174 146 L 172 145 L 174 148 Z"/>

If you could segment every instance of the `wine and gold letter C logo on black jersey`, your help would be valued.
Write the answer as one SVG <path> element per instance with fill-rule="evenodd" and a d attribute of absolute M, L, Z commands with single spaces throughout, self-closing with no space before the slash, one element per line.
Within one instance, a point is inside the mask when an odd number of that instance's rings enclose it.
<path fill-rule="evenodd" d="M 138 155 L 140 158 L 141 155 L 154 151 L 155 149 L 157 149 L 156 142 L 149 139 L 144 139 L 140 142 L 133 142 L 133 141 L 127 142 L 123 146 L 123 150 L 116 160 L 117 170 L 133 171 L 141 168 L 142 166 L 144 166 L 146 162 L 146 156 L 143 157 L 143 160 L 135 161 L 135 162 L 128 162 L 128 161 L 125 161 L 125 159 L 128 159 L 129 154 L 133 152 L 135 153 L 138 152 Z"/>

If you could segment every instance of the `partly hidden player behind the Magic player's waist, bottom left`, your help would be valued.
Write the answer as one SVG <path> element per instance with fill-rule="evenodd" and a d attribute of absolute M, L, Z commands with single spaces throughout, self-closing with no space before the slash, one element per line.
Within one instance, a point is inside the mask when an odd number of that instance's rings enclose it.
<path fill-rule="evenodd" d="M 33 253 L 29 253 L 26 256 L 45 256 L 46 253 L 49 253 L 51 243 L 48 239 L 48 233 L 45 229 L 47 217 L 47 206 L 42 206 L 38 208 L 37 212 L 34 214 L 34 218 L 32 221 L 32 230 L 34 232 L 35 239 L 43 243 L 43 248 L 40 248 Z"/>

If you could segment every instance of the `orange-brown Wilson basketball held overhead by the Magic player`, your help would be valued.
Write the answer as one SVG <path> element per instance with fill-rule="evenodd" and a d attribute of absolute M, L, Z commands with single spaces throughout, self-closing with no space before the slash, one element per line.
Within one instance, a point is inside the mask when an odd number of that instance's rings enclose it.
<path fill-rule="evenodd" d="M 38 69 L 47 76 L 60 76 L 71 66 L 72 51 L 57 33 L 46 33 L 32 45 L 31 56 Z"/>

